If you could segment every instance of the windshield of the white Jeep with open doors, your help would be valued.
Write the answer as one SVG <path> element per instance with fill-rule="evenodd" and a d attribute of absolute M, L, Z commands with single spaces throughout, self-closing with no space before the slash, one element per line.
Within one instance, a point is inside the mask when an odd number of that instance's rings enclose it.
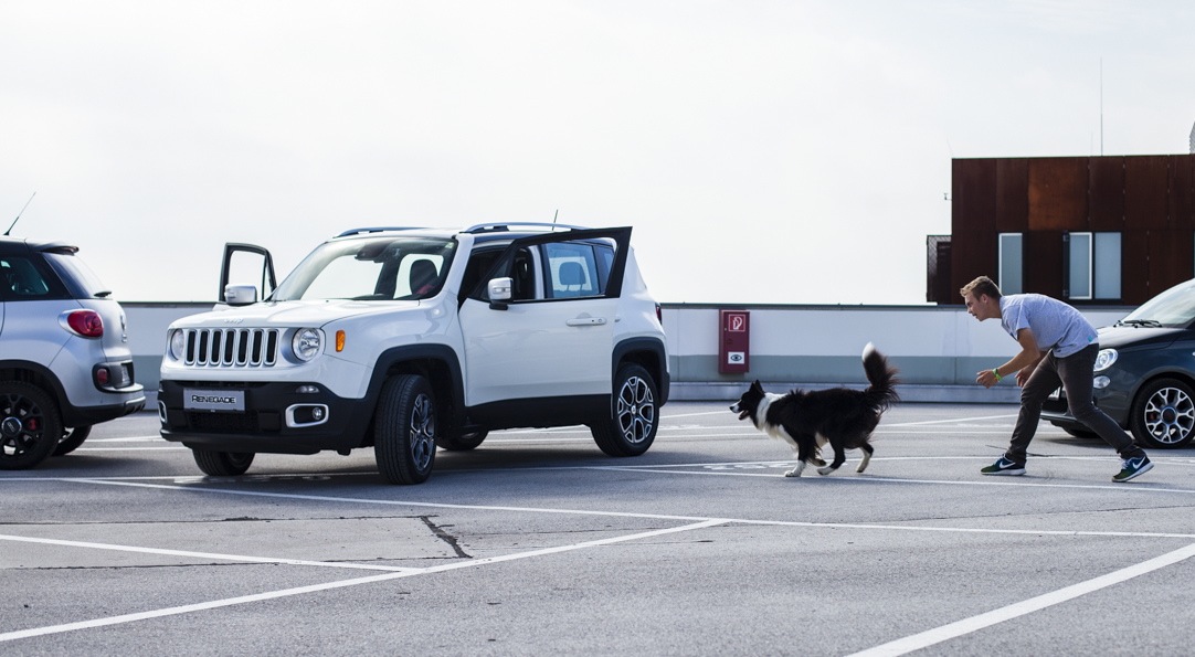
<path fill-rule="evenodd" d="M 369 237 L 329 241 L 304 258 L 275 301 L 428 299 L 440 291 L 456 241 Z"/>

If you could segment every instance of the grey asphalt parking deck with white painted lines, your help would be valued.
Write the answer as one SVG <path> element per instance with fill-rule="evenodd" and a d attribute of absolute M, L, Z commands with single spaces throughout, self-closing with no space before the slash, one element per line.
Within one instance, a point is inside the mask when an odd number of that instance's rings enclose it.
<path fill-rule="evenodd" d="M 1114 484 L 1016 406 L 903 404 L 829 477 L 728 404 L 648 454 L 504 431 L 390 486 L 372 450 L 206 478 L 157 416 L 0 472 L 2 655 L 1190 655 L 1195 452 Z"/>

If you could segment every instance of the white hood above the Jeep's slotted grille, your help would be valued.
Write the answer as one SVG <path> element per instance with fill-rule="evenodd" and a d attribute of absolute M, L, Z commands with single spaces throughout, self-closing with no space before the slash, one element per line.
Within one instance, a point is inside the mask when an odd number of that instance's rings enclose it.
<path fill-rule="evenodd" d="M 423 302 L 425 303 L 425 301 Z M 419 308 L 419 301 L 282 301 L 261 302 L 252 306 L 217 306 L 207 313 L 200 313 L 178 319 L 173 328 L 196 327 L 261 327 L 261 326 L 323 326 L 329 321 L 368 315 L 372 313 L 393 313 L 403 309 Z"/>

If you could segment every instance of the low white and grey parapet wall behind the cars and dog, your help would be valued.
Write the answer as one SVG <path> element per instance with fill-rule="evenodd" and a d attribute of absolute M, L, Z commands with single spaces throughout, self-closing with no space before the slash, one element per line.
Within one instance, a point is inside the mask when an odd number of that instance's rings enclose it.
<path fill-rule="evenodd" d="M 155 404 L 166 327 L 212 303 L 123 302 L 129 319 L 136 379 Z M 718 373 L 719 309 L 750 313 L 750 370 Z M 1132 308 L 1084 308 L 1096 326 Z M 1007 362 L 1017 343 L 995 320 L 975 321 L 962 306 L 719 306 L 664 303 L 673 399 L 733 400 L 759 379 L 773 392 L 793 387 L 865 385 L 860 358 L 870 342 L 900 369 L 905 401 L 1012 403 L 1007 380 L 994 389 L 975 385 L 975 373 Z"/>

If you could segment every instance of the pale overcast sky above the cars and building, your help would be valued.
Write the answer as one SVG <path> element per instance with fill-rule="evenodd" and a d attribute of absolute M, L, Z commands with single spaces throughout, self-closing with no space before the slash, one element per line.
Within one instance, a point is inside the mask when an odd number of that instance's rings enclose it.
<path fill-rule="evenodd" d="M 1193 80 L 1189 0 L 0 0 L 0 221 L 121 301 L 559 213 L 660 301 L 919 305 L 951 158 L 1187 153 Z"/>

